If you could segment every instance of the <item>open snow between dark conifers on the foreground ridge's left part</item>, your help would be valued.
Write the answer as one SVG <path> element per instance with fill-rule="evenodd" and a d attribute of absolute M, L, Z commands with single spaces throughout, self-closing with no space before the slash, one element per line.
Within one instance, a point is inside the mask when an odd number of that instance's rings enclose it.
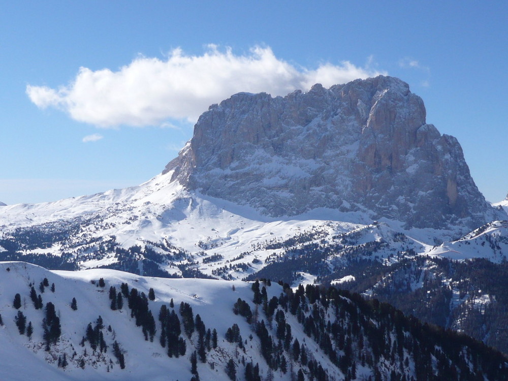
<path fill-rule="evenodd" d="M 9 269 L 9 271 L 7 270 Z M 153 342 L 145 341 L 139 327 L 136 327 L 131 317 L 129 308 L 122 310 L 111 310 L 108 292 L 110 285 L 115 285 L 119 290 L 122 282 L 135 287 L 139 292 L 148 294 L 150 288 L 155 291 L 156 299 L 151 302 L 150 308 L 156 313 L 162 304 L 169 305 L 173 299 L 175 306 L 180 302 L 189 303 L 194 314 L 200 314 L 206 327 L 212 327 L 219 333 L 220 351 L 211 351 L 208 361 L 217 365 L 211 369 L 208 364 L 198 364 L 201 379 L 224 380 L 227 378 L 224 373 L 225 360 L 236 358 L 233 345 L 224 340 L 227 329 L 236 322 L 240 331 L 250 332 L 246 322 L 242 322 L 233 313 L 232 307 L 239 297 L 250 300 L 252 291 L 250 284 L 242 282 L 214 281 L 206 279 L 161 279 L 145 278 L 129 273 L 114 270 L 86 270 L 77 272 L 54 271 L 50 272 L 41 267 L 21 262 L 0 263 L 2 273 L 2 295 L 0 296 L 0 313 L 4 326 L 0 327 L 0 356 L 2 367 L 0 367 L 0 379 L 2 380 L 89 380 L 89 379 L 123 379 L 123 380 L 166 380 L 190 379 L 189 356 L 194 347 L 196 337 L 187 341 L 187 354 L 185 358 L 169 358 L 165 349 L 158 343 L 158 337 Z M 50 352 L 44 351 L 40 324 L 43 317 L 42 310 L 34 309 L 29 300 L 28 284 L 30 282 L 39 284 L 44 277 L 47 277 L 49 284 L 55 284 L 55 292 L 49 289 L 42 294 L 44 304 L 52 302 L 60 316 L 62 336 L 57 345 L 51 348 Z M 103 277 L 106 279 L 106 287 L 100 288 L 97 281 Z M 92 284 L 91 281 L 96 282 Z M 235 285 L 235 291 L 232 285 Z M 276 290 L 275 290 L 276 289 Z M 280 293 L 278 285 L 273 285 L 272 293 Z M 27 316 L 27 322 L 34 324 L 34 335 L 28 340 L 26 335 L 20 335 L 14 325 L 14 316 L 17 312 L 12 307 L 12 299 L 16 293 L 22 295 L 23 306 L 19 309 Z M 39 290 L 38 290 L 39 293 Z M 70 308 L 72 298 L 77 300 L 77 310 Z M 105 327 L 111 325 L 113 332 L 106 334 L 105 340 L 110 349 L 104 354 L 106 360 L 93 356 L 90 346 L 80 346 L 80 341 L 85 335 L 88 323 L 97 320 L 101 315 Z M 157 321 L 157 326 L 159 325 Z M 160 330 L 159 330 L 160 331 Z M 294 333 L 296 337 L 298 332 Z M 158 335 L 157 335 L 158 336 Z M 245 334 L 247 338 L 248 334 Z M 111 354 L 113 338 L 118 340 L 125 353 L 125 369 L 120 369 L 116 359 Z M 301 337 L 303 339 L 303 337 Z M 256 337 L 251 345 L 256 348 Z M 88 354 L 84 355 L 84 351 Z M 72 360 L 72 353 L 76 351 L 75 360 Z M 57 367 L 57 357 L 67 353 L 68 367 L 63 370 Z M 256 362 L 262 362 L 259 354 L 251 351 L 251 356 Z M 321 356 L 322 357 L 322 356 Z M 85 359 L 85 367 L 81 369 L 77 361 Z M 109 362 L 112 358 L 113 365 Z M 318 357 L 319 358 L 319 357 Z M 325 361 L 325 360 L 322 360 Z M 29 366 L 19 367 L 19 364 Z M 108 369 L 108 364 L 110 368 Z M 149 366 L 147 366 L 149 364 Z M 329 365 L 330 366 L 330 365 Z M 277 379 L 289 379 L 278 377 Z"/>

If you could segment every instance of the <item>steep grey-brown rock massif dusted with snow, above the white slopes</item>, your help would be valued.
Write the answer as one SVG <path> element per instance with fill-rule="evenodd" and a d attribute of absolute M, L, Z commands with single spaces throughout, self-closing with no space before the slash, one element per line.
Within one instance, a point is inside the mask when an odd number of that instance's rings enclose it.
<path fill-rule="evenodd" d="M 470 230 L 505 218 L 474 184 L 457 139 L 425 116 L 422 99 L 385 76 L 283 98 L 238 93 L 201 115 L 165 172 L 270 216 L 325 207 Z"/>

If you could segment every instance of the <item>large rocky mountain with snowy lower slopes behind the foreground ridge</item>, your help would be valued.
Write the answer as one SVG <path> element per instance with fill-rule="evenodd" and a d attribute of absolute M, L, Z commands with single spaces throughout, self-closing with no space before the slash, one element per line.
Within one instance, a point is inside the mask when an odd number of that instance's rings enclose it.
<path fill-rule="evenodd" d="M 179 156 L 139 186 L 3 206 L 0 259 L 173 278 L 261 277 L 294 287 L 334 283 L 429 322 L 440 303 L 448 309 L 435 323 L 457 322 L 453 328 L 488 340 L 504 317 L 477 334 L 451 316 L 467 304 L 463 297 L 435 298 L 424 310 L 397 305 L 386 290 L 405 287 L 415 300 L 424 290 L 441 295 L 432 287 L 450 287 L 449 278 L 427 260 L 483 258 L 501 271 L 502 206 L 485 201 L 460 145 L 426 124 L 407 84 L 380 76 L 284 98 L 236 94 L 211 106 Z M 406 268 L 439 282 L 401 288 Z M 486 300 L 464 284 L 453 287 L 468 303 Z M 508 339 L 493 345 L 506 350 Z"/>

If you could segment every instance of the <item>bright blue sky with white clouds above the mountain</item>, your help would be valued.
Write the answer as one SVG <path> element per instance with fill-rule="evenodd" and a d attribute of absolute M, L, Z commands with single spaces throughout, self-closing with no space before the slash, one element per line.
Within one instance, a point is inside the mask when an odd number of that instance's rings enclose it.
<path fill-rule="evenodd" d="M 139 184 L 234 92 L 377 73 L 409 83 L 500 201 L 507 15 L 505 1 L 3 1 L 0 201 Z"/>

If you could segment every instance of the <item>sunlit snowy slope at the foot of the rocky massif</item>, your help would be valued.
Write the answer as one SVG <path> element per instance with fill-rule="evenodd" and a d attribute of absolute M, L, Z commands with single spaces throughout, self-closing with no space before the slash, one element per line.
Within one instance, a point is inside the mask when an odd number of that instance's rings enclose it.
<path fill-rule="evenodd" d="M 22 244 L 18 251 L 65 253 L 81 269 L 114 265 L 118 247 L 148 245 L 166 256 L 157 266 L 169 274 L 182 274 L 179 265 L 185 265 L 207 276 L 227 279 L 241 279 L 262 269 L 270 258 L 284 256 L 288 246 L 268 249 L 267 244 L 299 235 L 310 235 L 306 242 L 335 244 L 334 236 L 350 231 L 356 236 L 360 229 L 363 241 L 355 244 L 362 244 L 376 240 L 395 243 L 389 236 L 400 232 L 410 237 L 416 253 L 422 253 L 436 239 L 457 234 L 454 230 L 404 230 L 402 222 L 382 219 L 384 223 L 375 233 L 365 235 L 372 223 L 368 213 L 326 208 L 293 217 L 268 217 L 248 206 L 183 189 L 171 178 L 172 171 L 135 187 L 52 203 L 6 206 L 0 209 L 0 231 L 4 238 L 13 237 L 16 242 L 45 236 L 46 241 Z M 395 243 L 378 258 L 401 249 L 403 245 Z"/>

